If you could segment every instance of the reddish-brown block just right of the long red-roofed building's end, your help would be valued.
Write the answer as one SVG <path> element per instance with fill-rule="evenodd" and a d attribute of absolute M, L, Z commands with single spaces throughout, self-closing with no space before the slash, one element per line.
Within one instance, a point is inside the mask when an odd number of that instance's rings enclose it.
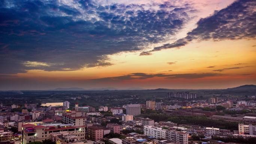
<path fill-rule="evenodd" d="M 101 140 L 104 136 L 104 129 L 100 126 L 88 127 L 88 138 L 93 141 Z"/>

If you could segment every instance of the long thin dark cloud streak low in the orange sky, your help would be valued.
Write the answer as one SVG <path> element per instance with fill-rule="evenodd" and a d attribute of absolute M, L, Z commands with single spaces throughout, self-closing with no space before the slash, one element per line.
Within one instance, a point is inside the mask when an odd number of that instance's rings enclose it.
<path fill-rule="evenodd" d="M 92 79 L 97 82 L 109 82 L 109 81 L 123 81 L 123 80 L 134 80 L 134 79 L 149 79 L 152 77 L 164 77 L 165 79 L 198 79 L 203 77 L 220 76 L 218 73 L 189 73 L 189 74 L 147 74 L 147 73 L 132 73 L 124 76 L 117 77 L 104 77 L 100 79 Z"/>

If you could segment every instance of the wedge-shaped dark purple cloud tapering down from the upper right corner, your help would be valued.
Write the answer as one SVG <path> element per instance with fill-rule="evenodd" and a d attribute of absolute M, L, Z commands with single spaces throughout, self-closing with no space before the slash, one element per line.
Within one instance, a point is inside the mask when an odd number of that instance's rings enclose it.
<path fill-rule="evenodd" d="M 256 36 L 256 1 L 238 0 L 225 9 L 216 11 L 207 18 L 201 18 L 197 27 L 183 39 L 155 47 L 148 53 L 168 48 L 185 46 L 192 40 L 237 40 L 254 39 Z"/>

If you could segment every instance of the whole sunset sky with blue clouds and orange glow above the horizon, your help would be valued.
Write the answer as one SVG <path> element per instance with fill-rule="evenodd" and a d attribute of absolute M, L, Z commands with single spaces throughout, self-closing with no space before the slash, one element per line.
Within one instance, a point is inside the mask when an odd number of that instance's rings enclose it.
<path fill-rule="evenodd" d="M 0 90 L 256 84 L 255 0 L 0 0 Z"/>

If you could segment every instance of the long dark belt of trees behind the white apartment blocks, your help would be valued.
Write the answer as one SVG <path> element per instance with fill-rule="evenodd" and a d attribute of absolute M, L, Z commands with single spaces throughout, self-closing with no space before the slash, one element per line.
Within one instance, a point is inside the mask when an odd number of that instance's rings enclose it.
<path fill-rule="evenodd" d="M 217 127 L 220 129 L 230 129 L 238 130 L 238 122 L 228 122 L 225 120 L 213 120 L 206 116 L 180 116 L 180 115 L 166 115 L 166 114 L 142 114 L 142 117 L 149 117 L 155 120 L 155 122 L 160 121 L 170 121 L 177 124 L 188 124 L 188 125 L 199 125 L 206 127 Z"/>

